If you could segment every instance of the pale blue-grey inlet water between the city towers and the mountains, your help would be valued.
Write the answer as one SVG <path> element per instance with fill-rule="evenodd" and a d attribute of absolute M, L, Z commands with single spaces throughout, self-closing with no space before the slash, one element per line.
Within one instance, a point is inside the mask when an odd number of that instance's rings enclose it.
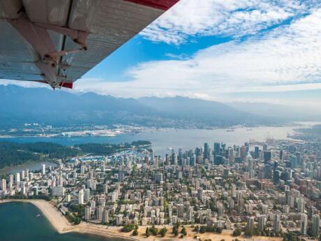
<path fill-rule="evenodd" d="M 310 123 L 303 126 L 311 126 Z M 227 129 L 145 129 L 136 134 L 121 134 L 114 137 L 24 137 L 24 138 L 0 138 L 0 140 L 15 141 L 18 143 L 30 143 L 46 141 L 61 145 L 75 145 L 81 143 L 130 143 L 134 140 L 149 140 L 152 143 L 155 154 L 165 155 L 170 153 L 170 148 L 176 151 L 202 147 L 205 142 L 213 147 L 214 142 L 226 143 L 227 146 L 244 145 L 249 140 L 264 141 L 267 138 L 286 139 L 294 133 L 294 129 L 302 128 L 299 124 L 290 126 L 260 126 L 240 127 L 233 131 Z"/>

